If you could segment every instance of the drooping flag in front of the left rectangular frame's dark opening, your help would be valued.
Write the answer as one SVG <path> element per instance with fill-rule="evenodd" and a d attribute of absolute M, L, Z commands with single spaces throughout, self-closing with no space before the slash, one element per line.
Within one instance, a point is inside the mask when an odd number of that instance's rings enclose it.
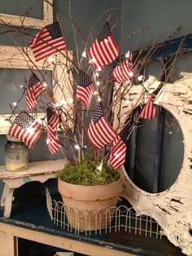
<path fill-rule="evenodd" d="M 27 108 L 28 111 L 32 108 L 37 107 L 37 97 L 46 90 L 41 81 L 38 79 L 35 73 L 31 74 L 28 80 L 28 90 L 27 90 Z"/>

